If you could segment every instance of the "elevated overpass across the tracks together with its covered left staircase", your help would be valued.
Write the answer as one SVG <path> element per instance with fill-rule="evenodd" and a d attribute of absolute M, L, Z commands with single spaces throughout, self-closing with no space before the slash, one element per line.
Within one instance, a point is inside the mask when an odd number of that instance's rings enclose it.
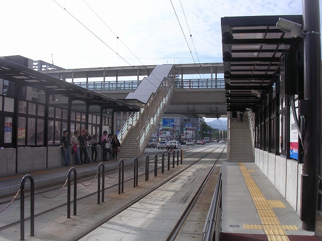
<path fill-rule="evenodd" d="M 163 116 L 226 116 L 221 63 L 55 69 L 44 73 L 139 107 L 118 134 L 122 158 L 142 156 Z M 136 80 L 129 80 L 136 77 Z M 124 79 L 126 77 L 126 79 Z M 123 78 L 123 79 L 122 79 Z M 76 81 L 75 81 L 76 80 Z M 77 81 L 80 80 L 80 81 Z M 57 104 L 62 104 L 57 102 Z M 73 106 L 77 103 L 73 103 Z M 78 103 L 84 108 L 84 103 Z M 97 109 L 98 113 L 102 110 Z M 113 112 L 113 109 L 106 112 Z M 91 109 L 95 112 L 95 106 Z"/>

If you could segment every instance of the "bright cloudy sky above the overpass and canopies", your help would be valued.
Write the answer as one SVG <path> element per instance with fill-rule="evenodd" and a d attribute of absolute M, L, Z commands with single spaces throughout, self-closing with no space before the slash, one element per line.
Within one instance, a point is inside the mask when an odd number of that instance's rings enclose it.
<path fill-rule="evenodd" d="M 1 6 L 0 56 L 66 69 L 222 62 L 221 17 L 302 14 L 302 0 L 2 0 Z"/>

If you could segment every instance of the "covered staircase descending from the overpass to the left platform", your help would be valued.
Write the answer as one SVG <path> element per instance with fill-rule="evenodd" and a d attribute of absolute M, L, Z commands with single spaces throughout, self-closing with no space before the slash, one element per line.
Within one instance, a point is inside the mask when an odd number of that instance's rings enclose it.
<path fill-rule="evenodd" d="M 165 67 L 167 68 L 166 74 L 164 75 L 165 72 L 160 71 L 160 69 L 162 70 L 162 68 Z M 142 156 L 150 136 L 155 132 L 165 109 L 171 102 L 175 86 L 175 75 L 169 73 L 172 66 L 163 66 L 162 68 L 155 68 L 154 70 L 156 73 L 152 76 L 154 79 L 148 80 L 148 83 L 144 83 L 142 80 L 140 85 L 143 84 L 144 86 L 138 86 L 138 91 L 140 91 L 140 88 L 144 88 L 143 91 L 141 91 L 144 94 L 139 96 L 140 93 L 137 93 L 136 97 L 138 99 L 140 98 L 139 100 L 144 104 L 143 107 L 141 107 L 140 112 L 135 113 L 127 120 L 118 135 L 121 142 L 121 152 L 118 154 L 119 159 L 134 159 L 135 156 L 138 158 Z M 157 79 L 157 75 L 166 77 L 164 77 L 162 81 L 156 82 L 155 79 Z M 146 86 L 150 83 L 153 83 L 153 85 L 150 86 L 151 88 Z M 158 85 L 156 85 L 157 83 Z M 157 88 L 153 90 L 152 88 L 155 86 L 157 86 Z M 149 96 L 148 99 L 147 96 Z M 146 99 L 144 100 L 144 98 Z"/>

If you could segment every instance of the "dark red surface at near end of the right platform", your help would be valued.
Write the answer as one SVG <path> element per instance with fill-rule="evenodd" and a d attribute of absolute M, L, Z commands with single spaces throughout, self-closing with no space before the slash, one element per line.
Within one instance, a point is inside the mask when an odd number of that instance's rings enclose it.
<path fill-rule="evenodd" d="M 318 241 L 316 236 L 288 235 L 290 241 Z M 268 241 L 265 234 L 221 232 L 219 241 Z"/>

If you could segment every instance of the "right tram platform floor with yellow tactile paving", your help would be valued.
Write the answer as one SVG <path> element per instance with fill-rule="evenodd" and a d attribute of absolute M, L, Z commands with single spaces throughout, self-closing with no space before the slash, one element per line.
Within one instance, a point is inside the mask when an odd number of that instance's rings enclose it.
<path fill-rule="evenodd" d="M 318 240 L 255 163 L 224 162 L 219 240 Z"/>

